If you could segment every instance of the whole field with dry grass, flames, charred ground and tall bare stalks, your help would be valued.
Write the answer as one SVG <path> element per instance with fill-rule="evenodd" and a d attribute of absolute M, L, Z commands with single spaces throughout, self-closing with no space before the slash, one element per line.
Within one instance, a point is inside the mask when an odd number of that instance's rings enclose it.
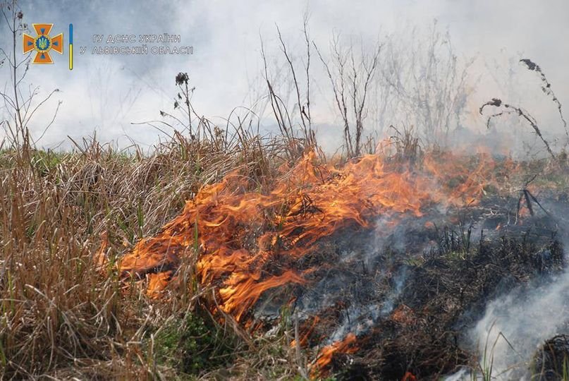
<path fill-rule="evenodd" d="M 476 107 L 486 132 L 467 131 L 472 62 L 434 27 L 402 59 L 393 40 L 326 56 L 305 17 L 300 60 L 276 28 L 288 93 L 261 44 L 268 119 L 213 123 L 180 72 L 150 150 L 96 135 L 49 150 L 30 130 L 58 90 L 24 95 L 24 16 L 1 11 L 2 379 L 569 380 L 569 132 L 530 59 L 516 63 L 563 131 L 498 98 Z M 406 119 L 369 126 L 372 95 Z M 489 132 L 501 122 L 518 130 Z M 537 152 L 520 154 L 522 131 Z"/>

